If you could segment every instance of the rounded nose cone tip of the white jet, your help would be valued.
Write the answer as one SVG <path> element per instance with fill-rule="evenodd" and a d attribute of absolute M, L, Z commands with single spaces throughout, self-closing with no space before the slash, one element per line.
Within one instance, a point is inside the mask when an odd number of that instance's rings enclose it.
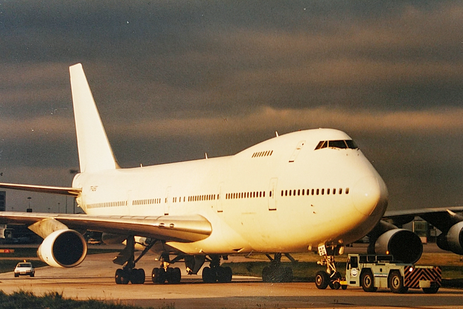
<path fill-rule="evenodd" d="M 363 177 L 351 188 L 351 192 L 354 207 L 366 216 L 369 216 L 377 206 L 387 205 L 385 201 L 388 191 L 381 177 Z"/>

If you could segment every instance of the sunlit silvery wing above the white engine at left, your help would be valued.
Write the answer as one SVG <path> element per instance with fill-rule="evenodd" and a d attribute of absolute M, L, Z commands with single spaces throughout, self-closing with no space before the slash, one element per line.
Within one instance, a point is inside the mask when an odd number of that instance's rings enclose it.
<path fill-rule="evenodd" d="M 165 241 L 193 242 L 203 240 L 212 233 L 211 223 L 199 214 L 143 217 L 0 212 L 0 224 L 31 225 L 44 219 L 55 219 L 72 229 L 137 235 Z"/>

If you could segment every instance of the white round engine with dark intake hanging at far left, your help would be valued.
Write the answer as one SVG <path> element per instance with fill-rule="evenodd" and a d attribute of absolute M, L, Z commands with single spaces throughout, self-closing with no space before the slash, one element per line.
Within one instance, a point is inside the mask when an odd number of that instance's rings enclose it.
<path fill-rule="evenodd" d="M 62 229 L 48 235 L 37 250 L 38 257 L 53 267 L 74 267 L 87 255 L 87 243 L 81 233 Z"/>

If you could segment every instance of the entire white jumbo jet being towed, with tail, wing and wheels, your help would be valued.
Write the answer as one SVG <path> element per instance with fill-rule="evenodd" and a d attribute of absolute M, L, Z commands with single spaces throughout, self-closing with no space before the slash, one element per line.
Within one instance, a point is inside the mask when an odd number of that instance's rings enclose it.
<path fill-rule="evenodd" d="M 292 252 L 318 250 L 328 268 L 318 280 L 329 284 L 338 275 L 333 256 L 369 233 L 386 211 L 382 178 L 354 141 L 333 129 L 284 134 L 227 157 L 120 168 L 81 64 L 69 71 L 80 163 L 72 187 L 0 184 L 72 195 L 85 212 L 0 214 L 0 222 L 28 224 L 44 238 L 38 256 L 51 266 L 80 264 L 87 252 L 81 233 L 91 230 L 104 232 L 106 243 L 126 240 L 113 260 L 123 265 L 117 284 L 144 283 L 145 272 L 135 265 L 148 250 L 161 261 L 152 271 L 156 283 L 180 282 L 180 269 L 170 267 L 180 261 L 189 274 L 209 262 L 205 282 L 230 282 L 232 271 L 221 259 L 250 253 L 270 258 L 264 281 L 290 281 L 282 254 L 291 259 Z M 394 235 L 411 233 L 393 231 L 383 251 Z M 137 259 L 136 246 L 144 248 Z"/>

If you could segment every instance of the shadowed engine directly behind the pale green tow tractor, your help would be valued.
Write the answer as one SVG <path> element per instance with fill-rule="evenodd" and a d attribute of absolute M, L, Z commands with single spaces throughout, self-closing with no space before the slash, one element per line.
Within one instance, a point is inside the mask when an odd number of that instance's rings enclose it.
<path fill-rule="evenodd" d="M 417 234 L 403 228 L 382 233 L 375 243 L 376 254 L 391 254 L 395 260 L 415 263 L 423 253 L 423 244 Z"/>

